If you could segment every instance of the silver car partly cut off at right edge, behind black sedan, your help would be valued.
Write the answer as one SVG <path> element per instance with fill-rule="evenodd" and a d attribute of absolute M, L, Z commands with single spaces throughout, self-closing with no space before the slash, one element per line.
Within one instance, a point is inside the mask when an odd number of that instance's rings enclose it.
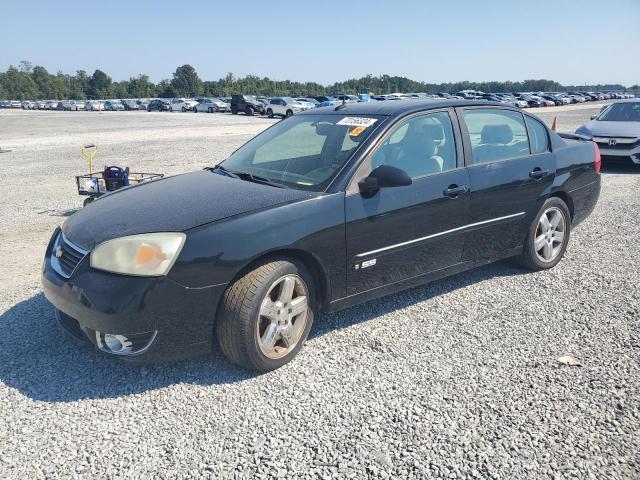
<path fill-rule="evenodd" d="M 640 99 L 603 107 L 576 133 L 593 137 L 603 160 L 631 160 L 640 165 Z"/>

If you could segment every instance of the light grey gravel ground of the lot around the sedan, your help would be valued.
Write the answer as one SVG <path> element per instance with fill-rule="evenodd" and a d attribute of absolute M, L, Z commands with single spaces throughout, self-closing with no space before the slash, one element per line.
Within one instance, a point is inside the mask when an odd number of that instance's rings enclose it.
<path fill-rule="evenodd" d="M 536 111 L 573 131 L 599 105 Z M 0 478 L 639 478 L 640 169 L 606 168 L 552 271 L 499 263 L 319 318 L 262 376 L 72 343 L 42 253 L 96 164 L 175 174 L 272 123 L 0 111 Z M 583 363 L 557 362 L 575 355 Z"/>

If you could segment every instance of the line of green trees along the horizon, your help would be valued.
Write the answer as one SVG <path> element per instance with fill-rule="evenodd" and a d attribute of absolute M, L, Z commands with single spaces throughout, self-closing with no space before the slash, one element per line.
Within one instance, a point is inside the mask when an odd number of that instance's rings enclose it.
<path fill-rule="evenodd" d="M 198 96 L 229 96 L 234 93 L 254 95 L 327 95 L 336 92 L 357 94 L 368 90 L 375 94 L 394 92 L 448 92 L 460 90 L 482 90 L 485 92 L 531 92 L 566 90 L 621 90 L 622 85 L 572 85 L 563 86 L 553 80 L 525 80 L 523 82 L 455 82 L 426 83 L 406 77 L 390 75 L 367 75 L 332 85 L 315 82 L 293 82 L 290 80 L 271 80 L 267 77 L 247 75 L 237 78 L 228 73 L 219 80 L 202 80 L 191 65 L 176 68 L 171 79 L 153 83 L 149 76 L 138 75 L 129 80 L 114 82 L 102 70 L 89 75 L 78 70 L 75 75 L 58 71 L 49 73 L 46 68 L 31 62 L 22 61 L 0 72 L 0 99 L 37 100 L 37 99 L 105 99 L 105 98 L 173 98 Z M 634 85 L 630 90 L 640 90 Z"/>

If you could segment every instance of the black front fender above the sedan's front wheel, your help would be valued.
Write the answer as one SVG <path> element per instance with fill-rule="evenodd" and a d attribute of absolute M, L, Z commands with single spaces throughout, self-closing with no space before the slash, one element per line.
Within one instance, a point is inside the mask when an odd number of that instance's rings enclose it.
<path fill-rule="evenodd" d="M 330 279 L 329 296 L 346 291 L 344 192 L 231 217 L 186 234 L 169 276 L 188 288 L 227 284 L 257 258 L 292 250 L 318 261 Z"/>

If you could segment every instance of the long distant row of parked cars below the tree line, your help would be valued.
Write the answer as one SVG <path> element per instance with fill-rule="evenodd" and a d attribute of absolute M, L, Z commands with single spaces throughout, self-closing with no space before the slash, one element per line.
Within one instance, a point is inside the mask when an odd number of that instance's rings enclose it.
<path fill-rule="evenodd" d="M 24 110 L 86 110 L 86 111 L 119 111 L 146 110 L 148 112 L 228 112 L 232 114 L 267 115 L 287 117 L 310 108 L 337 105 L 352 102 L 399 101 L 411 99 L 464 99 L 490 100 L 512 105 L 518 108 L 552 107 L 583 103 L 596 100 L 617 100 L 634 98 L 626 92 L 515 92 L 486 93 L 477 90 L 462 90 L 455 94 L 439 92 L 427 93 L 392 93 L 388 95 L 349 95 L 335 93 L 333 95 L 315 95 L 302 97 L 265 97 L 255 95 L 233 95 L 221 98 L 156 98 L 126 100 L 38 100 L 38 101 L 0 101 L 0 108 L 22 108 Z"/>

